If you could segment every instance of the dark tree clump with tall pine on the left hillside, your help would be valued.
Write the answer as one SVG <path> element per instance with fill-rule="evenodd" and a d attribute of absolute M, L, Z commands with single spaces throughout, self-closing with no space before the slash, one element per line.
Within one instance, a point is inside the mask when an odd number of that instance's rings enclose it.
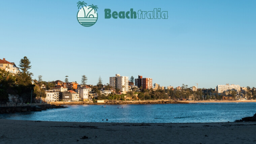
<path fill-rule="evenodd" d="M 19 95 L 24 103 L 34 102 L 35 97 L 45 97 L 44 89 L 41 89 L 37 84 L 32 84 L 33 73 L 29 72 L 31 69 L 30 61 L 27 57 L 20 60 L 19 67 L 21 72 L 13 75 L 5 70 L 0 70 L 0 103 L 8 102 L 8 94 Z"/>

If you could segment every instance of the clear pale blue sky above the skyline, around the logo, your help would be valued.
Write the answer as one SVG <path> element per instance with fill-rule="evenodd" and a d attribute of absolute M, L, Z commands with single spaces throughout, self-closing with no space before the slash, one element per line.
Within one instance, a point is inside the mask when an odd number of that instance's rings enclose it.
<path fill-rule="evenodd" d="M 44 81 L 95 85 L 138 75 L 160 86 L 256 87 L 255 0 L 86 0 L 98 6 L 91 27 L 76 19 L 77 0 L 1 0 L 0 59 L 27 56 Z M 168 19 L 104 19 L 111 11 L 168 11 Z"/>

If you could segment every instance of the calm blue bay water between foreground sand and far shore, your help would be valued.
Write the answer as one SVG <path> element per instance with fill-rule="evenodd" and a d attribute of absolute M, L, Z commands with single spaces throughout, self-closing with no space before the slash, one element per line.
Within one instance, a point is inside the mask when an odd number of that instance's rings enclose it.
<path fill-rule="evenodd" d="M 42 112 L 2 114 L 0 118 L 76 122 L 106 122 L 108 119 L 107 122 L 183 123 L 232 122 L 256 113 L 256 103 L 66 106 L 68 108 Z"/>

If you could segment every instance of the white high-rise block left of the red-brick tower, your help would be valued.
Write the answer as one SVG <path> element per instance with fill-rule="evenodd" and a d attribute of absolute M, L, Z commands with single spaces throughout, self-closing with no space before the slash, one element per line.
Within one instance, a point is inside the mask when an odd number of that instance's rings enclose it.
<path fill-rule="evenodd" d="M 128 78 L 128 76 L 116 74 L 114 77 L 109 77 L 109 85 L 120 89 L 121 92 L 127 92 L 129 90 Z"/>

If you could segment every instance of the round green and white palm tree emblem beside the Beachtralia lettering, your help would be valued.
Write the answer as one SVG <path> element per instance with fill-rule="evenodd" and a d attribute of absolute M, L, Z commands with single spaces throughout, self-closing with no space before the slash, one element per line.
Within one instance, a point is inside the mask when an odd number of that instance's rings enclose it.
<path fill-rule="evenodd" d="M 79 22 L 79 24 L 81 24 L 84 27 L 91 27 L 92 25 L 94 25 L 97 20 L 98 20 L 98 13 L 97 13 L 97 5 L 89 5 L 86 6 L 87 3 L 85 3 L 84 1 L 78 1 L 77 3 L 77 7 L 78 7 L 78 12 L 77 12 L 77 21 Z"/>

